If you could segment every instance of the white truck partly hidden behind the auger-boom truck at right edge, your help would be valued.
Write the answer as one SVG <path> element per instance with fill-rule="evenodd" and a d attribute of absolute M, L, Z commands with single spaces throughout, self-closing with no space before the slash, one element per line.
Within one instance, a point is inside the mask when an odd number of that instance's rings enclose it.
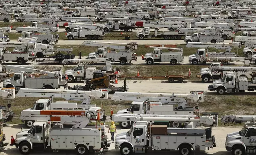
<path fill-rule="evenodd" d="M 214 67 L 221 66 L 220 62 L 212 62 L 208 68 L 201 68 L 200 74 L 197 74 L 196 77 L 202 79 L 204 83 L 208 83 L 211 79 L 221 79 L 224 74 L 230 71 L 214 71 Z M 239 76 L 247 77 L 247 79 L 251 79 L 252 72 L 238 72 Z"/>

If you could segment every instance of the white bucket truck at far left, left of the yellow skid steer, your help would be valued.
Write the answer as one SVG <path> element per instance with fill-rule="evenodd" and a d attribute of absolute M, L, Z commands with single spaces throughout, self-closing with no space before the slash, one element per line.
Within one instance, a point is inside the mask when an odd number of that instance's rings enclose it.
<path fill-rule="evenodd" d="M 67 86 L 67 81 L 62 81 L 61 72 L 58 74 L 56 72 L 10 65 L 6 65 L 6 67 L 21 71 L 16 72 L 12 78 L 6 79 L 3 82 L 4 88 L 15 88 L 16 91 L 19 91 L 20 88 L 56 89 Z M 33 78 L 27 74 L 28 72 L 39 73 L 41 75 Z"/>

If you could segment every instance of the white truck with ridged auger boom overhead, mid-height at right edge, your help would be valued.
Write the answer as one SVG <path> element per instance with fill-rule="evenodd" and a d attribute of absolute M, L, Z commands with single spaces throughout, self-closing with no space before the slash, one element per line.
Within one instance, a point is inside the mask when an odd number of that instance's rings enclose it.
<path fill-rule="evenodd" d="M 217 91 L 218 95 L 225 93 L 239 93 L 244 91 L 255 91 L 255 77 L 252 82 L 248 82 L 246 77 L 239 76 L 238 72 L 255 72 L 256 67 L 215 67 L 214 71 L 230 71 L 223 75 L 222 79 L 213 81 L 212 85 L 208 86 L 209 91 Z M 235 72 L 235 73 L 234 73 Z"/>

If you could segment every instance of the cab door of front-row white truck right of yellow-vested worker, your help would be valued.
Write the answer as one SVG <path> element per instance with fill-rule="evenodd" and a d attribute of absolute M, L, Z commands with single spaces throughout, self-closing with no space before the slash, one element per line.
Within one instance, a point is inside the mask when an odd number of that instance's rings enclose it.
<path fill-rule="evenodd" d="M 134 146 L 145 146 L 146 145 L 146 137 L 145 137 L 145 129 L 144 128 L 134 128 L 133 133 L 131 135 L 131 142 Z"/>

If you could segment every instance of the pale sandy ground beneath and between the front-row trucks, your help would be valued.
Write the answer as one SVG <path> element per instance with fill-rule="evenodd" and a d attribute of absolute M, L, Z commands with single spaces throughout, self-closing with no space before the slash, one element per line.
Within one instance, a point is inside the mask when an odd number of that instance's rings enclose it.
<path fill-rule="evenodd" d="M 16 138 L 16 133 L 21 131 L 21 127 L 23 125 L 11 125 L 8 127 L 4 127 L 4 134 L 6 134 L 6 141 L 10 143 L 11 136 L 13 135 L 14 138 Z M 118 127 L 117 127 L 118 128 Z M 225 138 L 228 133 L 239 131 L 241 127 L 239 128 L 230 128 L 230 127 L 215 127 L 212 130 L 212 134 L 215 135 L 215 141 L 216 141 L 216 147 L 213 149 L 210 149 L 209 151 L 206 151 L 209 155 L 231 155 L 230 152 L 226 151 L 225 149 Z M 127 132 L 127 129 L 117 129 L 117 133 Z M 110 140 L 110 134 L 107 134 Z M 159 153 L 159 151 L 157 151 Z M 178 155 L 178 151 L 160 151 L 163 155 Z M 148 152 L 147 155 L 154 155 L 156 152 Z M 72 151 L 60 151 L 59 153 L 51 153 L 51 152 L 32 152 L 32 155 L 55 155 L 55 154 L 74 154 Z M 120 155 L 119 151 L 114 149 L 114 144 L 111 143 L 111 146 L 109 147 L 108 152 L 104 153 L 96 153 L 103 154 L 103 155 Z M 205 154 L 204 151 L 202 153 L 196 153 L 196 154 Z M 15 146 L 6 146 L 6 149 L 1 152 L 1 155 L 20 155 L 19 150 Z M 194 153 L 192 153 L 194 155 Z"/>

